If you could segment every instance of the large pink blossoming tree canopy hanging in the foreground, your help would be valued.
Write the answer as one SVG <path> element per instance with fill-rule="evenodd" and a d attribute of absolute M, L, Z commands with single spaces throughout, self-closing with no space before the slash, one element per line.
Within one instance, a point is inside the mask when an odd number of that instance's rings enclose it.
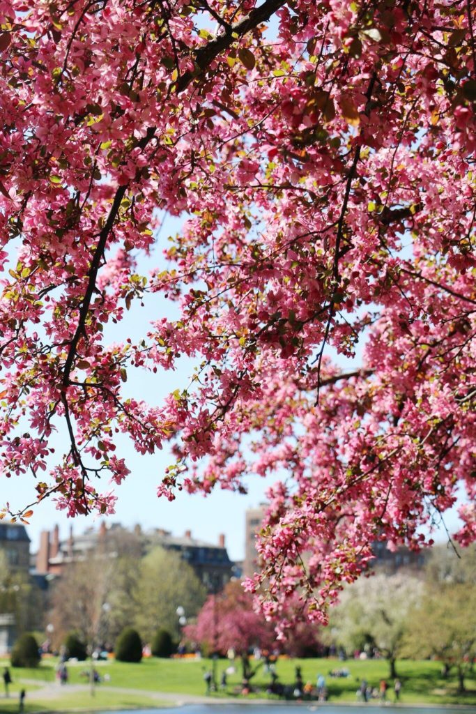
<path fill-rule="evenodd" d="M 268 615 L 297 590 L 325 618 L 462 484 L 472 540 L 475 4 L 0 0 L 0 25 L 1 471 L 72 516 L 113 511 L 118 432 L 173 441 L 168 498 L 278 473 Z M 142 276 L 159 210 L 187 220 Z M 124 339 L 154 293 L 179 318 Z M 161 406 L 125 391 L 180 356 Z"/>

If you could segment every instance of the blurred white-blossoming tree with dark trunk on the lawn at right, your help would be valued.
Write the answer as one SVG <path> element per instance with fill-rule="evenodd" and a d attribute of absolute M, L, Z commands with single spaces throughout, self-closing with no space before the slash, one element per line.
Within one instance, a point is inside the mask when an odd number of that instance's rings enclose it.
<path fill-rule="evenodd" d="M 420 599 L 422 588 L 420 580 L 405 573 L 358 580 L 345 588 L 331 613 L 332 636 L 346 649 L 375 645 L 388 660 L 390 677 L 395 678 L 407 615 Z"/>

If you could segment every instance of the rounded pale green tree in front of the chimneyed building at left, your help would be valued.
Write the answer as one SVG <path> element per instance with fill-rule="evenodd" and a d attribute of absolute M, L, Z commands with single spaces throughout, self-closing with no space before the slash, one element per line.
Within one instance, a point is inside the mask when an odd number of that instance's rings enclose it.
<path fill-rule="evenodd" d="M 133 588 L 133 621 L 144 640 L 151 642 L 157 628 L 176 632 L 178 605 L 191 617 L 198 613 L 205 598 L 206 589 L 178 553 L 154 548 L 140 563 Z"/>

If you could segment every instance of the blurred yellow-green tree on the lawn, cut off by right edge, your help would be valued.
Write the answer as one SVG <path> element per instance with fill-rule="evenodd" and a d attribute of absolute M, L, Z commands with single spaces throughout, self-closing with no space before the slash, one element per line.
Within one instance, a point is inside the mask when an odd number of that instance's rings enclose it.
<path fill-rule="evenodd" d="M 407 620 L 403 653 L 436 657 L 450 672 L 458 691 L 476 657 L 476 590 L 470 583 L 432 583 Z"/>

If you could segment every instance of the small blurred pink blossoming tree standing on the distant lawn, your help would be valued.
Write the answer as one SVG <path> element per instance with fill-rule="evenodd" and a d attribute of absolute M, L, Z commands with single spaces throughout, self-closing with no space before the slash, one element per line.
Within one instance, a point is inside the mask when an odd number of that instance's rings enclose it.
<path fill-rule="evenodd" d="M 254 674 L 248 658 L 250 648 L 270 648 L 275 643 L 273 627 L 255 612 L 252 596 L 235 582 L 228 583 L 223 593 L 208 597 L 196 624 L 188 625 L 185 634 L 212 651 L 225 654 L 235 650 L 242 660 L 243 677 L 248 679 Z"/>

